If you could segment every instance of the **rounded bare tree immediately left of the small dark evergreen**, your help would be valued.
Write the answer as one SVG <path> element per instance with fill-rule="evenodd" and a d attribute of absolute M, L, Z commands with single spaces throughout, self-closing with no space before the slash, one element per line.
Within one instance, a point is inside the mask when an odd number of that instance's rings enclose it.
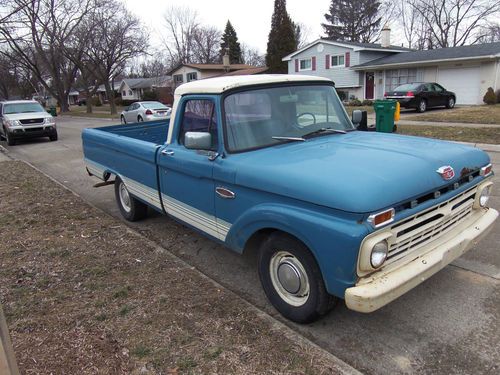
<path fill-rule="evenodd" d="M 213 26 L 198 26 L 193 31 L 194 49 L 192 61 L 199 64 L 219 62 L 221 32 Z"/>

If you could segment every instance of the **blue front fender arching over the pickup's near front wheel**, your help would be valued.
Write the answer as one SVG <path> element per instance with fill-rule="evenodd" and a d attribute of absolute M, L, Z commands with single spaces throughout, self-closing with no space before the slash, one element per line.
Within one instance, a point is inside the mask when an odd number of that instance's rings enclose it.
<path fill-rule="evenodd" d="M 236 220 L 226 244 L 242 252 L 248 239 L 262 229 L 277 229 L 302 241 L 312 252 L 330 294 L 343 298 L 356 283 L 356 264 L 361 241 L 368 234 L 355 215 L 332 215 L 285 204 L 266 203 L 252 207 Z"/>

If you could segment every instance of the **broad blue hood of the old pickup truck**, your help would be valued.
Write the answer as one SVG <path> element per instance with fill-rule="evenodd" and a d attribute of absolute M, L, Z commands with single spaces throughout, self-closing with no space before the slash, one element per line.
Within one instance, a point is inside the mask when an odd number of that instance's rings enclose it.
<path fill-rule="evenodd" d="M 238 185 L 355 213 L 375 212 L 460 179 L 489 163 L 474 147 L 354 131 L 232 155 Z M 239 166 L 241 165 L 241 167 Z M 436 170 L 451 166 L 445 181 Z"/>

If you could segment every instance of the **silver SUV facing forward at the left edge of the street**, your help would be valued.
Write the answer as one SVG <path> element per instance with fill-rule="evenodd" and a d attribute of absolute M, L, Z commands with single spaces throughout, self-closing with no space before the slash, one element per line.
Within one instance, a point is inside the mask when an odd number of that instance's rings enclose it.
<path fill-rule="evenodd" d="M 0 136 L 9 146 L 22 138 L 49 137 L 57 141 L 56 121 L 35 100 L 0 102 Z"/>

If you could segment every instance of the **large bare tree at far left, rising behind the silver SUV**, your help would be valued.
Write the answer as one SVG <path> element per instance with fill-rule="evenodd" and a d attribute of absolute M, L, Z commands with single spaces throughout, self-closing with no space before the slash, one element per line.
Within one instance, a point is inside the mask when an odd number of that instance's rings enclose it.
<path fill-rule="evenodd" d="M 11 0 L 2 7 L 0 35 L 19 65 L 68 110 L 78 66 L 63 53 L 71 35 L 100 0 Z M 0 51 L 1 52 L 1 51 Z"/>

